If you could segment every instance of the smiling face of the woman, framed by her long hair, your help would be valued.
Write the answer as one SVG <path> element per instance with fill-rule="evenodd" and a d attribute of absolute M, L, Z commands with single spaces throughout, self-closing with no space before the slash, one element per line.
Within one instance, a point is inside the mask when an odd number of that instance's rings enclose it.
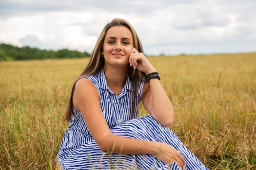
<path fill-rule="evenodd" d="M 125 26 L 114 26 L 108 29 L 101 52 L 105 65 L 127 66 L 133 49 L 133 35 Z"/>

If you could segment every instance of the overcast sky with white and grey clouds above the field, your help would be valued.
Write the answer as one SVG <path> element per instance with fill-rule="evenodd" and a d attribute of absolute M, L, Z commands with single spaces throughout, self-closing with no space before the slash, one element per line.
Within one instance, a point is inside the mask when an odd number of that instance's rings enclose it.
<path fill-rule="evenodd" d="M 256 51 L 256 0 L 0 0 L 0 43 L 91 52 L 117 17 L 148 55 Z"/>

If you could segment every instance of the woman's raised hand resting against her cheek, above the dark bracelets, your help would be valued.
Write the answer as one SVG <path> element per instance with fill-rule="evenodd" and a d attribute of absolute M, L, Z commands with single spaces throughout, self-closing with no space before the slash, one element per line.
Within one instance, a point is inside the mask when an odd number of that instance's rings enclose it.
<path fill-rule="evenodd" d="M 156 69 L 151 65 L 147 60 L 145 55 L 142 52 L 138 52 L 135 48 L 132 49 L 129 57 L 130 66 L 134 69 L 138 69 L 146 74 L 155 72 Z"/>

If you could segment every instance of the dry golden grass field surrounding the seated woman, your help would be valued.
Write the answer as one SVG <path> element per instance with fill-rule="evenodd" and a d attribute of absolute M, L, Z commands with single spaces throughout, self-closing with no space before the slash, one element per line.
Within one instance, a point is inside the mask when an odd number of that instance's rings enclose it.
<path fill-rule="evenodd" d="M 255 170 L 256 53 L 149 60 L 182 142 L 210 170 Z M 87 61 L 0 62 L 0 170 L 54 169 L 71 85 Z"/>

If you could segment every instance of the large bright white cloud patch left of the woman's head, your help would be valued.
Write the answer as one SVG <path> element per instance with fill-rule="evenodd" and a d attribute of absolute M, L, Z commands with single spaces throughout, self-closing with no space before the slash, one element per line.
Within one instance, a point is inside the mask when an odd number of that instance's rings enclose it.
<path fill-rule="evenodd" d="M 92 51 L 103 26 L 115 16 L 117 14 L 104 11 L 98 11 L 97 15 L 94 11 L 63 11 L 10 17 L 0 20 L 4 25 L 0 28 L 0 39 L 22 46 L 20 39 L 33 35 L 39 38 L 40 48 Z"/>

